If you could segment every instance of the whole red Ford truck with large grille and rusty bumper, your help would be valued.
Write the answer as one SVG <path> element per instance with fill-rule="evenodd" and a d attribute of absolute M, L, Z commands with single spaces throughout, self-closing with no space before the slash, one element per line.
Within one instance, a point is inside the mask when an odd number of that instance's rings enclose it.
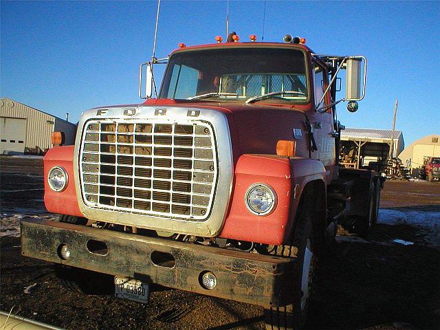
<path fill-rule="evenodd" d="M 23 221 L 22 253 L 83 291 L 112 276 L 116 296 L 146 302 L 157 283 L 261 305 L 267 329 L 297 329 L 338 224 L 366 236 L 377 219 L 380 177 L 338 164 L 336 104 L 358 109 L 366 59 L 290 35 L 228 39 L 141 65 L 142 104 L 81 115 L 76 144 L 44 158 L 45 206 L 62 215 Z"/>

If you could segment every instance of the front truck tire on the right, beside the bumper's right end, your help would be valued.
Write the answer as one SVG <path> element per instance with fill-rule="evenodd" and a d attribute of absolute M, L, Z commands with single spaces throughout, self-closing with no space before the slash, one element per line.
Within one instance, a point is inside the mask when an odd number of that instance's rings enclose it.
<path fill-rule="evenodd" d="M 272 307 L 265 310 L 265 326 L 267 330 L 301 329 L 307 320 L 309 298 L 313 292 L 316 270 L 316 245 L 314 244 L 311 212 L 302 208 L 296 218 L 296 227 L 292 245 L 298 248 L 298 262 L 294 266 L 292 281 L 293 303 L 283 307 Z M 285 250 L 285 247 L 282 250 Z"/>

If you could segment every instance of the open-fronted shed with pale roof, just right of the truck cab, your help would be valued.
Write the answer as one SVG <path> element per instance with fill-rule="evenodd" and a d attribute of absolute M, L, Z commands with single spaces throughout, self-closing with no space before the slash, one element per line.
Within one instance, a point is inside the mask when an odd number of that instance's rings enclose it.
<path fill-rule="evenodd" d="M 352 129 L 341 131 L 341 162 L 351 168 L 367 168 L 370 163 L 384 164 L 391 148 L 393 157 L 404 150 L 404 135 L 401 131 L 386 129 Z M 358 157 L 360 155 L 360 157 Z"/>

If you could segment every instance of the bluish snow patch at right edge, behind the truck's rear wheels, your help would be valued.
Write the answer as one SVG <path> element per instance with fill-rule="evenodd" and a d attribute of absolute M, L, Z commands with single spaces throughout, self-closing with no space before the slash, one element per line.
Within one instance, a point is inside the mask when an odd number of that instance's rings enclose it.
<path fill-rule="evenodd" d="M 410 225 L 421 230 L 425 240 L 440 246 L 440 211 L 380 209 L 377 223 L 385 225 Z"/>

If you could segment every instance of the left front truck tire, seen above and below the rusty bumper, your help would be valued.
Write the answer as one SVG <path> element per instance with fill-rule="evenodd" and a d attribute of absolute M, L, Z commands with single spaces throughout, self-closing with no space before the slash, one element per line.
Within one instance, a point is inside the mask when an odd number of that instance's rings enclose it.
<path fill-rule="evenodd" d="M 74 225 L 87 223 L 85 218 L 65 214 L 61 214 L 58 221 Z M 61 286 L 69 292 L 93 295 L 113 293 L 113 277 L 110 275 L 60 264 L 55 265 L 54 271 Z"/>

